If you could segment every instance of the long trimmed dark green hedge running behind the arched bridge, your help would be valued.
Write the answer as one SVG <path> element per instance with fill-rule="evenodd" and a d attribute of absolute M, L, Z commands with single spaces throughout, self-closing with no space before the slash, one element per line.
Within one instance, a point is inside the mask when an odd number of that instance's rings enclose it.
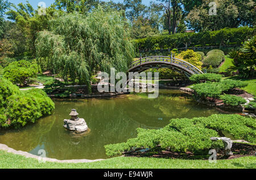
<path fill-rule="evenodd" d="M 144 39 L 133 40 L 134 46 L 139 49 L 174 49 L 177 47 L 185 47 L 188 43 L 189 47 L 195 45 L 229 45 L 234 43 L 241 45 L 255 34 L 256 28 L 240 27 L 240 28 L 224 28 L 219 31 L 205 31 L 199 33 L 178 33 L 174 35 L 159 35 L 146 37 Z"/>

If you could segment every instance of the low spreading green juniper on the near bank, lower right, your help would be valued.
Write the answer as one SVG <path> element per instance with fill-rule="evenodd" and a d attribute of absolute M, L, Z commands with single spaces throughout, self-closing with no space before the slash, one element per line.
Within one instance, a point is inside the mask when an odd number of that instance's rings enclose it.
<path fill-rule="evenodd" d="M 205 154 L 211 148 L 222 148 L 222 141 L 213 142 L 210 137 L 219 137 L 218 132 L 230 133 L 235 139 L 256 142 L 256 124 L 253 119 L 240 115 L 212 115 L 208 118 L 171 119 L 162 129 L 138 128 L 138 136 L 126 143 L 105 146 L 108 156 L 149 148 L 172 152 Z"/>

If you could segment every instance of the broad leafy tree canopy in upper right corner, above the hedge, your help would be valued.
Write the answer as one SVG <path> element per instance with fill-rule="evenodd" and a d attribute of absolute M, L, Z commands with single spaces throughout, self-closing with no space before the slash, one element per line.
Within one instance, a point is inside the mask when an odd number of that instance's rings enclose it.
<path fill-rule="evenodd" d="M 209 14 L 209 3 L 203 0 L 202 5 L 194 7 L 188 14 L 189 26 L 196 31 L 215 31 L 221 28 L 255 26 L 256 11 L 254 0 L 214 0 L 216 15 Z"/>

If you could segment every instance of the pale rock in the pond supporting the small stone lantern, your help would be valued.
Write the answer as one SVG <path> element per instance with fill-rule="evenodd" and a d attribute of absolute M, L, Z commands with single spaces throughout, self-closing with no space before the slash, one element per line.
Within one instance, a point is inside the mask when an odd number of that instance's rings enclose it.
<path fill-rule="evenodd" d="M 85 132 L 88 129 L 88 126 L 84 119 L 79 118 L 79 120 L 70 120 L 70 119 L 64 119 L 64 125 L 65 128 L 76 131 L 78 133 Z"/>

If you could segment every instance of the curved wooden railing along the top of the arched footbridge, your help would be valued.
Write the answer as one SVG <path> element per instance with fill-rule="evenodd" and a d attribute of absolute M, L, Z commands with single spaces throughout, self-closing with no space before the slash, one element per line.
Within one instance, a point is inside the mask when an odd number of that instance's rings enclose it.
<path fill-rule="evenodd" d="M 170 57 L 170 56 L 149 56 L 149 57 L 139 58 L 138 60 L 131 62 L 131 65 L 129 66 L 129 68 L 131 69 L 135 66 L 142 65 L 144 63 L 152 62 L 152 61 L 167 62 L 167 63 L 170 63 L 171 65 L 183 66 L 184 68 L 192 71 L 195 74 L 200 74 L 200 73 L 203 74 L 203 72 L 201 72 L 200 69 L 196 68 L 196 66 L 190 64 L 189 62 L 180 60 L 175 57 Z"/>

